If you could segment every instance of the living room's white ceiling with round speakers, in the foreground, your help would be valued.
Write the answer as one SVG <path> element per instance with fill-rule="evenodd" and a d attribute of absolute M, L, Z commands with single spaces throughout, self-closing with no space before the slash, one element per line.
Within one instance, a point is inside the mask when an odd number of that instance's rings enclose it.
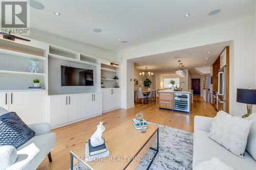
<path fill-rule="evenodd" d="M 45 9 L 31 8 L 31 33 L 35 28 L 113 51 L 254 15 L 254 0 L 37 1 Z M 221 12 L 208 16 L 215 9 Z"/>

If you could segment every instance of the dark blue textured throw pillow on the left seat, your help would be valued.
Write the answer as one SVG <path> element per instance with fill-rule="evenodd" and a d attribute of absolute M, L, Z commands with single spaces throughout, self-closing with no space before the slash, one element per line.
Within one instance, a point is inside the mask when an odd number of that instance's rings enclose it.
<path fill-rule="evenodd" d="M 0 116 L 0 146 L 12 145 L 18 148 L 35 135 L 15 112 Z"/>

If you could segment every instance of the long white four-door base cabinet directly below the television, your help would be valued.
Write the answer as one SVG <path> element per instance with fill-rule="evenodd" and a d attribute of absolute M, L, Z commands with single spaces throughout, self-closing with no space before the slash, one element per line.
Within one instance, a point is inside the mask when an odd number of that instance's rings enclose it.
<path fill-rule="evenodd" d="M 102 93 L 50 95 L 48 102 L 52 129 L 102 113 Z"/>

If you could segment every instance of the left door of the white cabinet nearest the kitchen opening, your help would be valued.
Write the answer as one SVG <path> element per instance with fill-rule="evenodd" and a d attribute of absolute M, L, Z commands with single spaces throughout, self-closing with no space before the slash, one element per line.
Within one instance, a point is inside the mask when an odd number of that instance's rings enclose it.
<path fill-rule="evenodd" d="M 102 89 L 102 109 L 103 111 L 110 110 L 113 108 L 113 94 L 112 88 Z"/>

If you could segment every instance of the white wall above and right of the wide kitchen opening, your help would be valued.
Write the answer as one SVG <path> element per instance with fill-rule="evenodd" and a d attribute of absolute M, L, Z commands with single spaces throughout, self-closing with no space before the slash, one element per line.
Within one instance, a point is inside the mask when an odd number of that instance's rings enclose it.
<path fill-rule="evenodd" d="M 246 106 L 236 102 L 237 88 L 256 86 L 254 15 L 136 46 L 120 51 L 118 55 L 125 60 L 230 40 L 233 44 L 230 45 L 229 108 L 231 114 L 243 115 Z"/>

